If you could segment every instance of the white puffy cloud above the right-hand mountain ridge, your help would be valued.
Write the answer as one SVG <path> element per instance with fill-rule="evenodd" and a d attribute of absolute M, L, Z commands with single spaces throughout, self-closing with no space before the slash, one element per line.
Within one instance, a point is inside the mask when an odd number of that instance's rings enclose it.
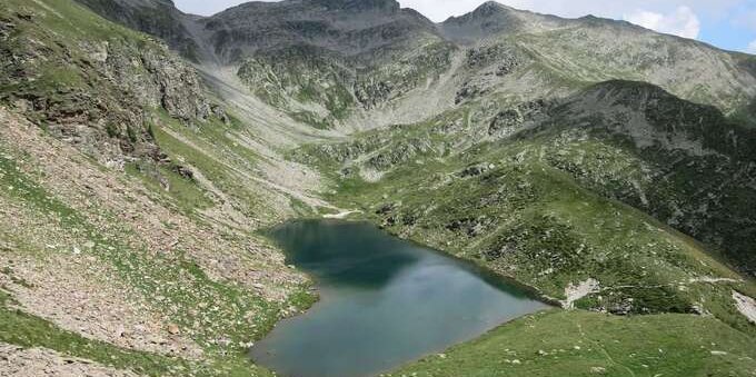
<path fill-rule="evenodd" d="M 658 32 L 666 32 L 685 38 L 698 38 L 700 21 L 693 9 L 680 6 L 667 14 L 647 10 L 636 10 L 625 17 L 626 21 Z"/>

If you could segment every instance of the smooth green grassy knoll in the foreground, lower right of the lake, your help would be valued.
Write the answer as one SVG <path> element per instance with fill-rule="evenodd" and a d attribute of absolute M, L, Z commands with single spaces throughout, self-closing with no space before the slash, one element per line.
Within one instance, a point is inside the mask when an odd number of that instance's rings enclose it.
<path fill-rule="evenodd" d="M 722 354 L 724 353 L 724 354 Z M 753 376 L 756 340 L 692 315 L 546 311 L 390 376 Z"/>

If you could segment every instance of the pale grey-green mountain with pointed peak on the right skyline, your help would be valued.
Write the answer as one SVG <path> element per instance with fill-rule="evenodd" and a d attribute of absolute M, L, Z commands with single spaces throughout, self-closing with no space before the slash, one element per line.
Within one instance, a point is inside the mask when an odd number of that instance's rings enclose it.
<path fill-rule="evenodd" d="M 446 21 L 442 28 L 485 30 L 477 36 L 479 48 L 520 48 L 549 76 L 567 81 L 641 80 L 725 112 L 754 98 L 752 57 L 628 22 L 595 17 L 565 20 L 489 2 Z"/>

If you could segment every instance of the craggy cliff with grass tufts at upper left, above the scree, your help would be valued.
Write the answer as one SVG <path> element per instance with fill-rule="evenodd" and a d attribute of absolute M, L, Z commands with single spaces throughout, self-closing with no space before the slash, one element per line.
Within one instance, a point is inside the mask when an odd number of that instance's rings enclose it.
<path fill-rule="evenodd" d="M 0 99 L 98 159 L 157 159 L 156 111 L 187 125 L 222 116 L 195 70 L 155 40 L 89 20 L 54 23 L 59 16 L 32 8 L 6 10 Z"/>

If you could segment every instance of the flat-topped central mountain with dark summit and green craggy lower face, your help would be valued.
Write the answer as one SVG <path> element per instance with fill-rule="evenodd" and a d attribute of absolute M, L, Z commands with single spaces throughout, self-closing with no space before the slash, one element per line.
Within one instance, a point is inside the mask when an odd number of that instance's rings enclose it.
<path fill-rule="evenodd" d="M 346 126 L 438 77 L 455 49 L 392 0 L 251 2 L 200 24 L 217 61 L 316 128 Z"/>

